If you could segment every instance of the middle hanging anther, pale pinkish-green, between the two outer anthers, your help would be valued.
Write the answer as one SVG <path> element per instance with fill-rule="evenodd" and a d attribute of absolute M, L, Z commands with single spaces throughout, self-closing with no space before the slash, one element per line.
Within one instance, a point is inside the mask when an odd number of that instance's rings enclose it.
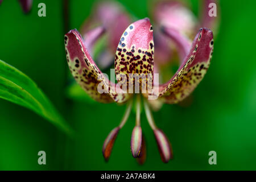
<path fill-rule="evenodd" d="M 131 154 L 138 158 L 142 147 L 142 129 L 141 126 L 135 126 L 131 134 Z"/>

